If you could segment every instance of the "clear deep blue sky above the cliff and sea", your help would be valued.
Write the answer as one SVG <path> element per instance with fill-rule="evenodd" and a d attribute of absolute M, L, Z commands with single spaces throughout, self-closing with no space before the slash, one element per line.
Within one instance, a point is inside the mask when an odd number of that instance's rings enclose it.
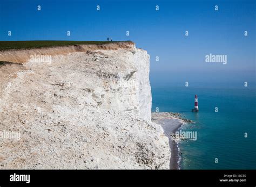
<path fill-rule="evenodd" d="M 151 56 L 153 85 L 255 82 L 255 2 L 1 0 L 0 40 L 132 40 Z M 206 63 L 210 53 L 227 64 Z"/>

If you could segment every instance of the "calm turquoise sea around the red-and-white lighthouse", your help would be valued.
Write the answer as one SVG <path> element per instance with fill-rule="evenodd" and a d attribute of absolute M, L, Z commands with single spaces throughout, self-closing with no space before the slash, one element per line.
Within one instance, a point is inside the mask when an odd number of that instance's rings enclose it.
<path fill-rule="evenodd" d="M 198 113 L 191 112 L 196 94 Z M 156 107 L 196 122 L 182 129 L 196 131 L 197 140 L 179 143 L 181 169 L 256 169 L 255 87 L 152 87 L 152 111 Z"/>

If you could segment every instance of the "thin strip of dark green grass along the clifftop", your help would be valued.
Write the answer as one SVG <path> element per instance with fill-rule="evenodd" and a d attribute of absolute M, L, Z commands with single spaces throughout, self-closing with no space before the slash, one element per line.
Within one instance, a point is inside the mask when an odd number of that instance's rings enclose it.
<path fill-rule="evenodd" d="M 38 40 L 38 41 L 0 41 L 0 51 L 8 49 L 28 49 L 40 47 L 53 47 L 53 46 L 69 46 L 69 45 L 82 45 L 82 44 L 110 44 L 120 41 L 55 41 L 55 40 Z M 130 42 L 130 41 L 122 41 Z"/>

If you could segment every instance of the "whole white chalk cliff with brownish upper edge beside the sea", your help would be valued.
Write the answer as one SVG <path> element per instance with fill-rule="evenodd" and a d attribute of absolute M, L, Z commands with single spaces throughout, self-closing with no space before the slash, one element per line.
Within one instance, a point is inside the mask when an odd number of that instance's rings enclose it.
<path fill-rule="evenodd" d="M 0 54 L 15 62 L 0 66 L 0 132 L 21 133 L 0 142 L 0 168 L 169 169 L 146 51 L 125 42 Z"/>

